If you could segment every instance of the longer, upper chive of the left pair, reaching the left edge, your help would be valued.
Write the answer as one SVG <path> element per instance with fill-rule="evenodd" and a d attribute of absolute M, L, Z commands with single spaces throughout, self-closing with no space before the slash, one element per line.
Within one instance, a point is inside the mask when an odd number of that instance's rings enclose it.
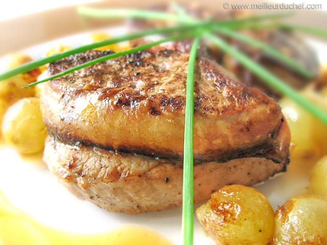
<path fill-rule="evenodd" d="M 149 35 L 153 35 L 153 34 L 173 33 L 176 31 L 193 30 L 198 27 L 210 26 L 211 24 L 212 24 L 211 22 L 204 21 L 204 22 L 196 23 L 196 24 L 193 23 L 193 24 L 186 24 L 186 25 L 168 27 L 168 28 L 154 28 L 154 29 L 150 29 L 150 30 L 146 30 L 146 31 L 131 33 L 131 34 L 127 34 L 127 35 L 121 35 L 118 37 L 113 37 L 113 38 L 109 38 L 106 40 L 82 45 L 79 47 L 72 48 L 71 50 L 67 50 L 62 53 L 54 54 L 54 55 L 51 55 L 48 57 L 40 58 L 40 59 L 31 61 L 29 63 L 20 65 L 18 67 L 15 67 L 11 70 L 8 70 L 8 71 L 4 72 L 3 74 L 0 74 L 0 81 L 5 80 L 10 77 L 13 77 L 13 76 L 16 76 L 18 74 L 33 70 L 42 65 L 60 60 L 62 58 L 68 57 L 70 55 L 74 55 L 74 54 L 82 53 L 84 51 L 92 50 L 93 48 L 97 48 L 97 47 L 101 47 L 101 46 L 105 46 L 105 45 L 109 45 L 109 44 L 113 44 L 113 43 L 118 43 L 118 42 L 122 42 L 122 41 L 127 41 L 127 40 L 131 40 L 131 39 L 135 39 L 135 38 L 140 38 L 140 37 L 144 37 L 144 36 L 149 36 Z"/>

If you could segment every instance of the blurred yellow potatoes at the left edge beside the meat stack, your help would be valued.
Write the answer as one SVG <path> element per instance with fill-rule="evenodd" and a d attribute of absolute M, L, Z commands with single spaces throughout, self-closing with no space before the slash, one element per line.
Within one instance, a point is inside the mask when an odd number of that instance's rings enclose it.
<path fill-rule="evenodd" d="M 8 68 L 31 60 L 27 55 L 17 55 Z M 0 83 L 0 133 L 21 154 L 41 152 L 47 135 L 35 87 L 24 88 L 35 82 L 41 71 L 37 68 Z"/>

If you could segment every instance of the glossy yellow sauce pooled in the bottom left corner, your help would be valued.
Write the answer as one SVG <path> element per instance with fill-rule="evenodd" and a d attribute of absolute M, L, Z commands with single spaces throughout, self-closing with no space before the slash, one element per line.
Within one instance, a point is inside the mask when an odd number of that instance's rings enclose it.
<path fill-rule="evenodd" d="M 98 234 L 68 233 L 42 225 L 21 212 L 0 191 L 0 245 L 168 245 L 170 241 L 144 227 L 125 226 Z"/>

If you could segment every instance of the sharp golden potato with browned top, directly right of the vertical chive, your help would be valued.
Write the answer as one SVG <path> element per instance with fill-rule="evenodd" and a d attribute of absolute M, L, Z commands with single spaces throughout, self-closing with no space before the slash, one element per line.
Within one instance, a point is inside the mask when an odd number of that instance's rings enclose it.
<path fill-rule="evenodd" d="M 217 244 L 264 244 L 272 238 L 274 211 L 264 194 L 228 185 L 196 211 L 204 230 Z"/>

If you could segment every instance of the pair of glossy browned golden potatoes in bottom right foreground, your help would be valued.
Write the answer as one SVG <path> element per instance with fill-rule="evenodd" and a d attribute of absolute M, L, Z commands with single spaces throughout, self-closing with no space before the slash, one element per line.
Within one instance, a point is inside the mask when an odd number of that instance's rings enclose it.
<path fill-rule="evenodd" d="M 225 186 L 196 211 L 200 224 L 221 245 L 327 244 L 327 197 L 299 195 L 274 211 L 264 194 Z"/>

